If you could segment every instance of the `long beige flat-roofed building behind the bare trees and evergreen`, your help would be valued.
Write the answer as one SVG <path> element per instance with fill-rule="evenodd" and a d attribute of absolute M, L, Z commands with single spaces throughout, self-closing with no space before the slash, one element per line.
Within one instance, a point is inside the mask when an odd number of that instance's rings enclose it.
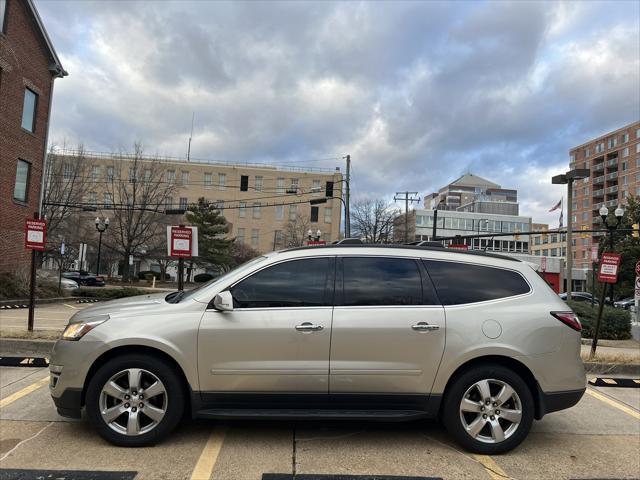
<path fill-rule="evenodd" d="M 229 238 L 246 243 L 260 252 L 287 246 L 287 226 L 299 221 L 314 232 L 320 231 L 322 240 L 337 240 L 340 234 L 342 174 L 338 168 L 301 168 L 267 164 L 233 164 L 190 161 L 170 157 L 138 159 L 137 173 L 133 173 L 135 157 L 83 152 L 84 173 L 88 185 L 83 204 L 95 206 L 98 214 L 109 216 L 109 210 L 124 203 L 115 198 L 118 182 L 131 182 L 132 176 L 144 182 L 151 169 L 161 169 L 153 178 L 173 191 L 162 199 L 159 209 L 186 209 L 204 197 L 217 204 L 230 225 Z M 51 155 L 52 163 L 61 165 L 62 175 L 69 172 L 77 159 L 76 152 Z M 70 167 L 67 168 L 67 165 Z M 333 192 L 326 203 L 310 205 Z M 130 202 L 131 200 L 126 200 Z M 95 214 L 93 215 L 96 216 Z M 178 223 L 182 217 L 173 217 Z M 298 220 L 300 219 L 300 220 Z"/>

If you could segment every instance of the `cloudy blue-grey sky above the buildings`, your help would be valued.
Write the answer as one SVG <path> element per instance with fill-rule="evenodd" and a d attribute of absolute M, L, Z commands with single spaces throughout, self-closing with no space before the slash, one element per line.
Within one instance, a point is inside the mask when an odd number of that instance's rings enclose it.
<path fill-rule="evenodd" d="M 69 77 L 50 138 L 95 151 L 344 165 L 358 196 L 471 171 L 563 193 L 572 146 L 640 118 L 640 3 L 37 0 Z"/>

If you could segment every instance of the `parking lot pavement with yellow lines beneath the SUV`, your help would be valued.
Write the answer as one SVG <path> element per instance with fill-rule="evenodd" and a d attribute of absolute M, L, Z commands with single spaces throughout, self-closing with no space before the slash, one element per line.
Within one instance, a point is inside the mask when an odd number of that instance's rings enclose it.
<path fill-rule="evenodd" d="M 489 457 L 461 451 L 437 422 L 185 421 L 155 447 L 118 448 L 58 416 L 47 384 L 45 368 L 0 367 L 2 480 L 640 477 L 640 388 L 589 387 Z"/>

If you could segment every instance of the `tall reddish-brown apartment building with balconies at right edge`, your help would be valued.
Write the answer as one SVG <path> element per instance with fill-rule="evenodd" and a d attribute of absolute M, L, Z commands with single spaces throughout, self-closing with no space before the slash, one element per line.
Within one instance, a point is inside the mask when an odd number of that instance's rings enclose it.
<path fill-rule="evenodd" d="M 598 213 L 606 205 L 609 211 L 629 196 L 640 195 L 640 122 L 589 140 L 570 150 L 569 168 L 589 168 L 591 176 L 574 183 L 573 228 L 596 229 L 602 220 Z M 574 265 L 591 267 L 591 246 L 598 237 L 574 236 Z"/>

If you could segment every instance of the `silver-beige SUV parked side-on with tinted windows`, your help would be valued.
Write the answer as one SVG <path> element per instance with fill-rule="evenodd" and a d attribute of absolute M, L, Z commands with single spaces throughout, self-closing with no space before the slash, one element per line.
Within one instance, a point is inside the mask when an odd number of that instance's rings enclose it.
<path fill-rule="evenodd" d="M 580 321 L 513 258 L 429 247 L 274 252 L 188 292 L 106 302 L 51 358 L 64 416 L 117 445 L 193 418 L 440 417 L 506 452 L 585 391 Z"/>

